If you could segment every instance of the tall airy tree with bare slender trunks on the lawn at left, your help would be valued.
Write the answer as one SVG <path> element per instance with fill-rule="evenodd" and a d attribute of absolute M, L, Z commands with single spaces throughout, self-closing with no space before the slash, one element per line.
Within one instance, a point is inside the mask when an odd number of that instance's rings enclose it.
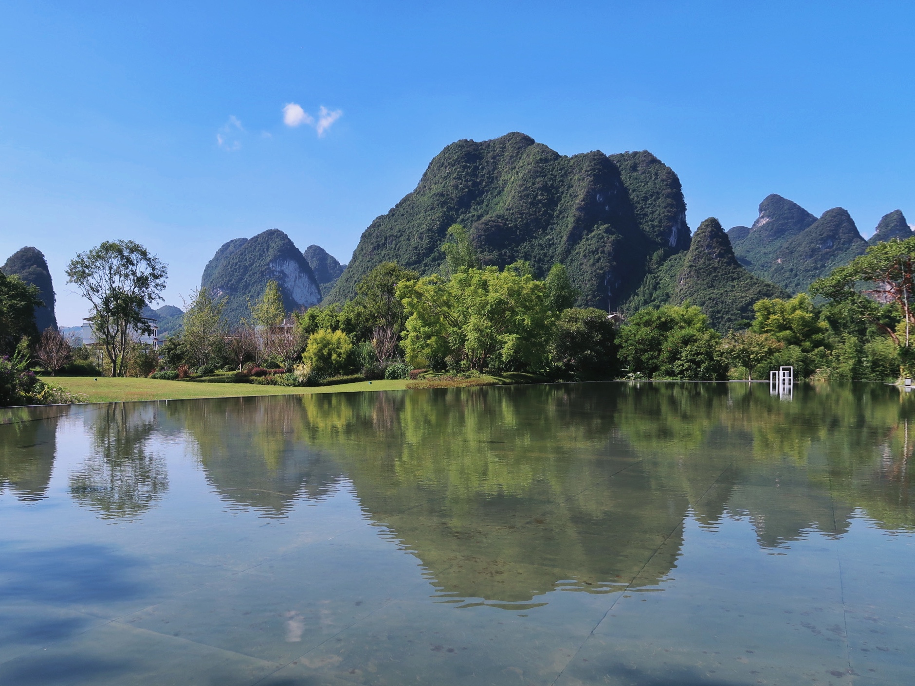
<path fill-rule="evenodd" d="M 141 313 L 145 305 L 161 299 L 166 264 L 135 241 L 104 241 L 70 260 L 67 276 L 67 283 L 76 284 L 92 305 L 92 331 L 111 375 L 123 375 L 133 335 L 152 332 Z"/>

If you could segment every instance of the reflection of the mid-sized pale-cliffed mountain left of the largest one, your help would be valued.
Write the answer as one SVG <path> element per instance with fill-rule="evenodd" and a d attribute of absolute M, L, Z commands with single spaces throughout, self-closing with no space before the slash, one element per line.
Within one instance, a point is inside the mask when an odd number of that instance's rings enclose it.
<path fill-rule="evenodd" d="M 210 485 L 231 504 L 285 517 L 299 499 L 322 500 L 339 486 L 339 468 L 303 440 L 297 399 L 177 402 L 167 411 L 193 437 Z"/>

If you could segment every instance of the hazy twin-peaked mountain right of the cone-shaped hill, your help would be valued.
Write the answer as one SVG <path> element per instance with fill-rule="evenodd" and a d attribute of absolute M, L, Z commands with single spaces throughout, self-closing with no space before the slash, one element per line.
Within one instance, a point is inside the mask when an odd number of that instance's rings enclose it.
<path fill-rule="evenodd" d="M 751 273 L 791 293 L 806 291 L 816 279 L 867 247 L 845 209 L 829 209 L 817 219 L 774 194 L 759 203 L 753 226 L 736 226 L 727 231 L 727 237 L 737 260 Z"/>

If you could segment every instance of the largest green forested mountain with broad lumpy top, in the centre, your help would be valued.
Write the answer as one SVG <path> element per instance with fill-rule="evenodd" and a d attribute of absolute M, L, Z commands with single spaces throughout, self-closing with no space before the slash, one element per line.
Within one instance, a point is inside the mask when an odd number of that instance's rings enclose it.
<path fill-rule="evenodd" d="M 689 246 L 680 181 L 648 152 L 565 156 L 524 134 L 447 145 L 413 192 L 362 234 L 326 297 L 343 302 L 382 262 L 442 268 L 447 228 L 463 224 L 484 264 L 564 263 L 579 305 L 613 309 L 655 263 Z"/>

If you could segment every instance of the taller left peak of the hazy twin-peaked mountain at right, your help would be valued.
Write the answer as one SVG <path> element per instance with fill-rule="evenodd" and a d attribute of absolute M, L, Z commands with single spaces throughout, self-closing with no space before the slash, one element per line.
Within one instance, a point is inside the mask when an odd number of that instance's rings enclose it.
<path fill-rule="evenodd" d="M 759 203 L 759 217 L 753 226 L 736 226 L 727 231 L 737 260 L 760 278 L 770 278 L 775 253 L 781 246 L 816 221 L 806 209 L 774 193 Z"/>

